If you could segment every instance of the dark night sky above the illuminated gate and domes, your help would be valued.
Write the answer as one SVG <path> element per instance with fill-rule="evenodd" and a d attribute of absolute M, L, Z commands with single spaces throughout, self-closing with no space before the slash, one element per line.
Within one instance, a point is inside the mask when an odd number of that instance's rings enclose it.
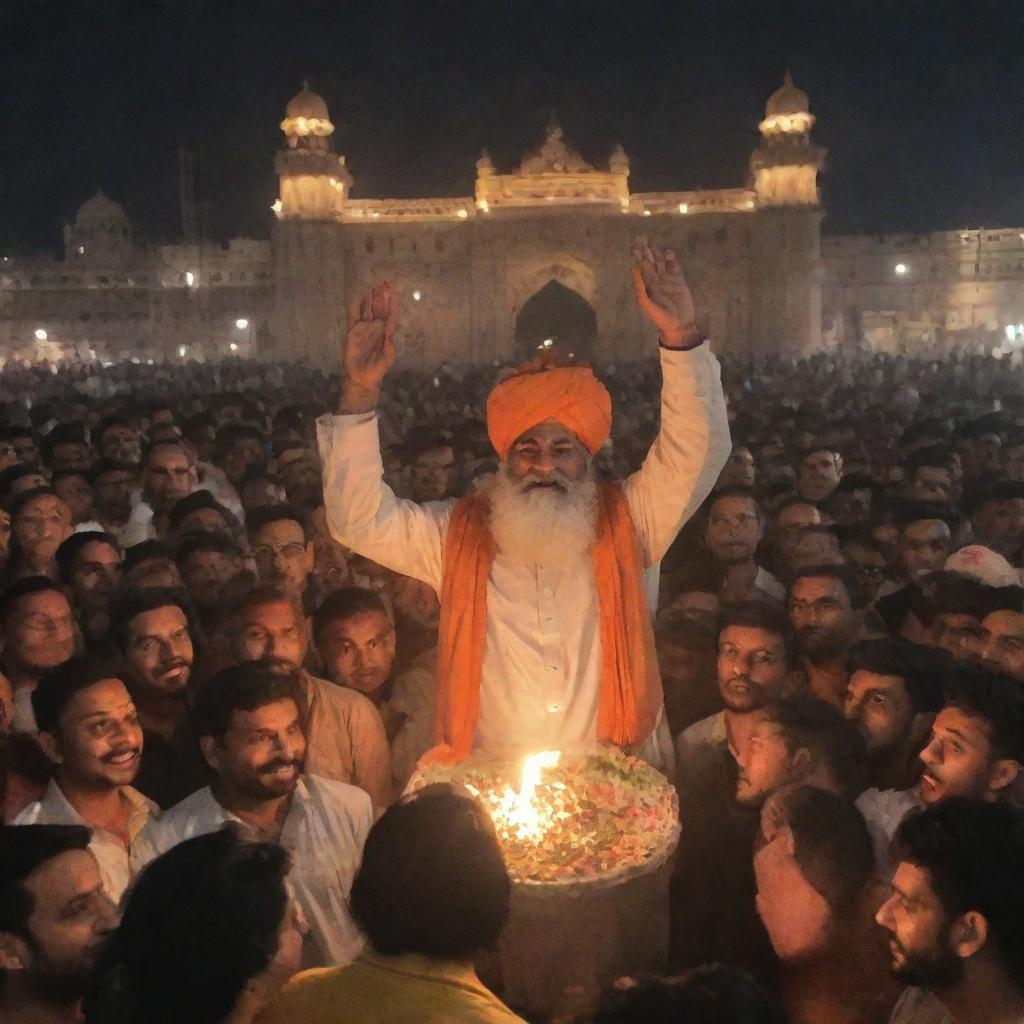
<path fill-rule="evenodd" d="M 825 230 L 1024 225 L 1020 0 L 0 0 L 0 246 L 56 252 L 97 185 L 180 234 L 265 238 L 284 106 L 308 76 L 353 196 L 469 196 L 556 106 L 635 191 L 746 182 L 785 68 L 827 147 Z"/>

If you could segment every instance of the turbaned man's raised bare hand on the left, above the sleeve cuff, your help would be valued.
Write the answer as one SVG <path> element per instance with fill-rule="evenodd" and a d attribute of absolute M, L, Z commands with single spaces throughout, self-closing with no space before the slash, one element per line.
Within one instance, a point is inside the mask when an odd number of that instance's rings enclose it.
<path fill-rule="evenodd" d="M 367 413 L 380 398 L 381 384 L 394 365 L 398 297 L 386 281 L 352 303 L 341 351 L 339 413 Z"/>

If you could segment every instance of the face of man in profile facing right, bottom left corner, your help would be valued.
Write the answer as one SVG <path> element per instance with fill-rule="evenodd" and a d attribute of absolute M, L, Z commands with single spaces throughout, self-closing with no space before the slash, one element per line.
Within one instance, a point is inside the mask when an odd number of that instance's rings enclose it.
<path fill-rule="evenodd" d="M 32 904 L 26 934 L 0 932 L 0 967 L 23 971 L 40 1002 L 75 1004 L 118 923 L 96 860 L 88 850 L 69 850 L 40 864 L 24 887 Z"/>

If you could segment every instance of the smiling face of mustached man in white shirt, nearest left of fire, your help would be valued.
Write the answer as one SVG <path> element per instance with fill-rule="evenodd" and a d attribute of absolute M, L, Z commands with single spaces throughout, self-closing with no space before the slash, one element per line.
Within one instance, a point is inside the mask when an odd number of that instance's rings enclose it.
<path fill-rule="evenodd" d="M 221 785 L 250 800 L 294 793 L 305 765 L 306 738 L 291 699 L 236 711 L 222 737 L 204 736 L 202 743 Z"/>

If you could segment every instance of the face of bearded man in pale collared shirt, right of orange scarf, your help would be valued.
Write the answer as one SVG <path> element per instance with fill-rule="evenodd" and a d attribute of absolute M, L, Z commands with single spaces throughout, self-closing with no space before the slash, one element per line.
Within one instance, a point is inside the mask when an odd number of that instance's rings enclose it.
<path fill-rule="evenodd" d="M 718 688 L 722 703 L 737 714 L 787 696 L 791 684 L 785 643 L 777 633 L 727 626 L 718 638 Z"/>

